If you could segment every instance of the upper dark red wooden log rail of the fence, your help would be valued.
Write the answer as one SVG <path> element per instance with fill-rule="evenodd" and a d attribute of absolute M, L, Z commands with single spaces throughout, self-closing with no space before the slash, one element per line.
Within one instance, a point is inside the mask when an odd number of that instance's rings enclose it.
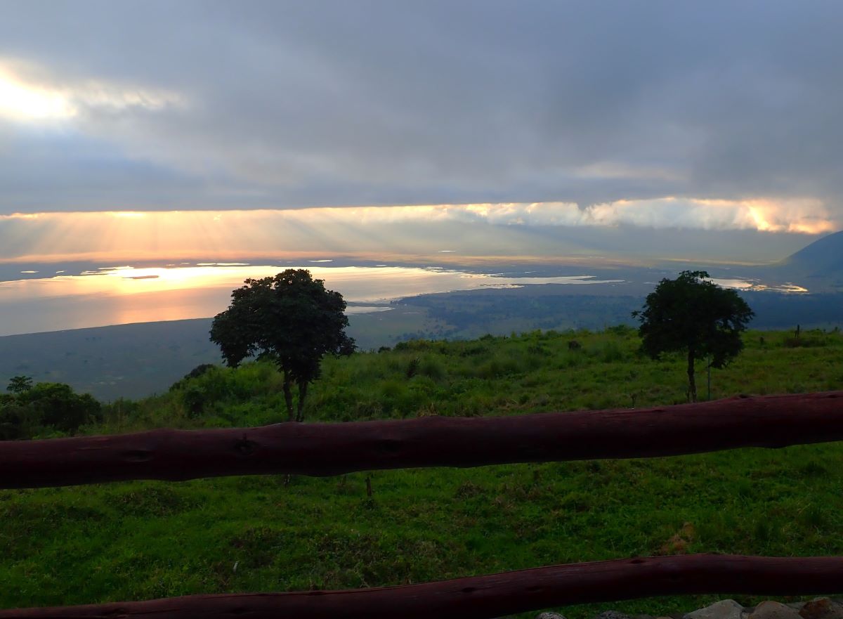
<path fill-rule="evenodd" d="M 0 442 L 0 487 L 641 458 L 843 440 L 843 391 L 648 409 Z"/>

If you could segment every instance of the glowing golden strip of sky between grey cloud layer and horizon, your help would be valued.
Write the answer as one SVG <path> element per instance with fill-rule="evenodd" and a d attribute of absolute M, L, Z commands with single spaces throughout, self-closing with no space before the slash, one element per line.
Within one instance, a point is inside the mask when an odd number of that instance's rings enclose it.
<path fill-rule="evenodd" d="M 812 213 L 810 203 L 678 199 L 588 208 L 568 203 L 506 203 L 19 213 L 0 216 L 0 264 L 330 261 L 336 256 L 379 261 L 385 257 L 556 260 L 584 255 L 770 261 L 801 249 L 816 234 L 830 229 L 830 223 L 814 219 Z M 667 229 L 669 234 L 664 234 Z M 774 231 L 784 234 L 771 234 Z"/>

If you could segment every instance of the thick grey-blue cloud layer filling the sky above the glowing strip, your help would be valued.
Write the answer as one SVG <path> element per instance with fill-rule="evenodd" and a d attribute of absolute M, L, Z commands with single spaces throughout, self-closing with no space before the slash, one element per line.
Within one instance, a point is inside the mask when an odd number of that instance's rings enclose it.
<path fill-rule="evenodd" d="M 75 110 L 0 126 L 0 212 L 690 196 L 813 198 L 841 220 L 840 3 L 0 13 L 0 67 Z"/>

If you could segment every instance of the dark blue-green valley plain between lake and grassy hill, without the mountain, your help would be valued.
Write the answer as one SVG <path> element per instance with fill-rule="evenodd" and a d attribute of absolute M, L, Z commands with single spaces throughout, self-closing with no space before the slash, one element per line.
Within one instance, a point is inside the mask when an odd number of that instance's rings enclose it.
<path fill-rule="evenodd" d="M 350 316 L 364 350 L 412 338 L 466 339 L 535 329 L 602 330 L 634 324 L 644 294 L 595 285 L 427 294 L 400 299 L 389 311 Z M 602 294 L 601 294 L 602 293 Z M 741 293 L 756 312 L 755 329 L 843 326 L 843 293 Z M 0 380 L 14 375 L 64 382 L 104 401 L 161 393 L 201 363 L 221 363 L 208 339 L 211 319 L 173 320 L 0 337 Z"/>

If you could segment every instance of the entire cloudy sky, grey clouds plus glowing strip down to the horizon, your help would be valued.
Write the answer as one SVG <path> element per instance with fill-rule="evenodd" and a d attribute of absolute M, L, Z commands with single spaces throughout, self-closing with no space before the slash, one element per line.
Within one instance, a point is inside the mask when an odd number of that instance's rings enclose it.
<path fill-rule="evenodd" d="M 776 260 L 843 229 L 840 23 L 821 1 L 0 0 L 0 261 Z"/>

